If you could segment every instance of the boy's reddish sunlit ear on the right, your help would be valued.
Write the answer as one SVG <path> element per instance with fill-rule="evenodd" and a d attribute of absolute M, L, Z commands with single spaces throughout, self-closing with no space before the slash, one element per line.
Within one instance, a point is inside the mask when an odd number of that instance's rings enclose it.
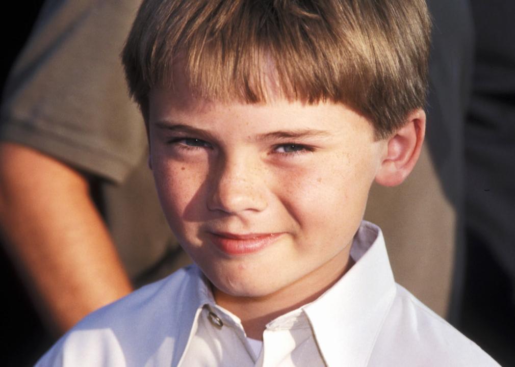
<path fill-rule="evenodd" d="M 417 163 L 425 135 L 425 112 L 410 112 L 407 123 L 386 142 L 386 152 L 375 175 L 375 182 L 396 186 L 404 181 Z"/>

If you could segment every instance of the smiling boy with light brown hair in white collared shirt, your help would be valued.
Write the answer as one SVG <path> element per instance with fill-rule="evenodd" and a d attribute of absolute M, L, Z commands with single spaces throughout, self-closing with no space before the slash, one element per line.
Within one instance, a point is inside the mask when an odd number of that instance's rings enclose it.
<path fill-rule="evenodd" d="M 40 365 L 496 365 L 394 283 L 362 222 L 372 181 L 417 161 L 429 33 L 422 0 L 144 1 L 123 62 L 197 265 Z"/>

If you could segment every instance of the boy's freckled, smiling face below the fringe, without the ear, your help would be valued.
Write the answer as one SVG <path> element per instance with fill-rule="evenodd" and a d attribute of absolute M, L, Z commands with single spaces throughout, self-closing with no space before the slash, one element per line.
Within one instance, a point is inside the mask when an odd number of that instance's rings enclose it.
<path fill-rule="evenodd" d="M 342 274 L 385 151 L 367 119 L 341 104 L 222 104 L 184 88 L 149 102 L 161 204 L 219 291 L 265 296 L 302 281 L 316 292 Z"/>

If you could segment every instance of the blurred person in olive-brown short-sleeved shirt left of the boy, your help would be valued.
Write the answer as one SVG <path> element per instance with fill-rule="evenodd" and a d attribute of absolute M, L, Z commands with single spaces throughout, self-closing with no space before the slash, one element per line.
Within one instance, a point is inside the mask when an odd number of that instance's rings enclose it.
<path fill-rule="evenodd" d="M 118 57 L 139 3 L 46 1 L 5 85 L 0 229 L 48 330 L 25 328 L 8 298 L 8 364 L 30 364 L 85 314 L 187 262 Z"/>

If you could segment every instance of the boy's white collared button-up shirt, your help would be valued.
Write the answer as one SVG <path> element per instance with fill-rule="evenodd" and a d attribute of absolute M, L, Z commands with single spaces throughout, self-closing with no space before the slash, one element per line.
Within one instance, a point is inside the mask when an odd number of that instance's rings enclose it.
<path fill-rule="evenodd" d="M 498 366 L 393 281 L 381 230 L 362 222 L 354 266 L 271 321 L 259 354 L 196 266 L 88 316 L 38 366 Z"/>

